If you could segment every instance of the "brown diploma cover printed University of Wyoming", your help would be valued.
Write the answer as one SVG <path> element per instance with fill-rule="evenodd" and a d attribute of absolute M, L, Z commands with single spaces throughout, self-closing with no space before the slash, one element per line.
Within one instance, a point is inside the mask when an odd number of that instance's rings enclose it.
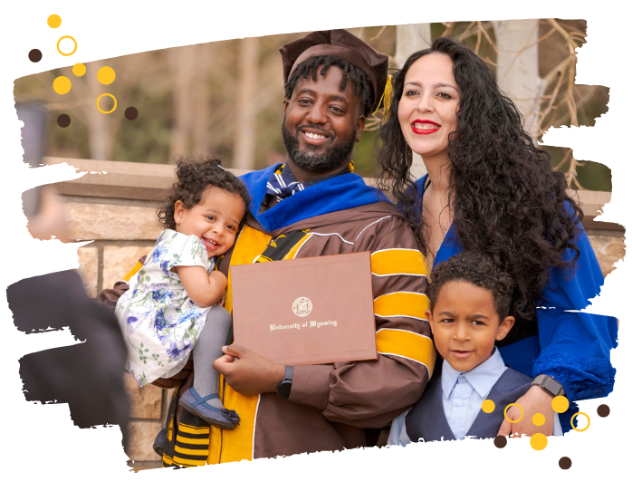
<path fill-rule="evenodd" d="M 370 253 L 230 268 L 235 344 L 283 365 L 377 360 Z"/>

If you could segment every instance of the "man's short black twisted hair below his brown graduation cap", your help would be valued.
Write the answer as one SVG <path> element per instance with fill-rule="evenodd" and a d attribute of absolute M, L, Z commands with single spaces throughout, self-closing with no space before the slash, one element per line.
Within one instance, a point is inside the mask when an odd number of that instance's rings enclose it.
<path fill-rule="evenodd" d="M 322 65 L 321 71 L 317 69 Z M 365 72 L 362 72 L 358 67 L 352 65 L 346 60 L 340 59 L 333 54 L 321 54 L 319 56 L 312 56 L 308 58 L 292 72 L 290 78 L 285 84 L 285 99 L 288 101 L 292 99 L 292 92 L 296 86 L 296 82 L 302 77 L 307 79 L 311 75 L 311 80 L 316 82 L 316 76 L 318 73 L 324 76 L 330 66 L 337 66 L 342 71 L 342 82 L 340 82 L 340 91 L 345 91 L 347 88 L 347 80 L 353 81 L 353 94 L 359 96 L 360 102 L 364 108 L 364 115 L 368 118 L 373 106 L 373 87 L 369 82 L 369 77 Z"/>

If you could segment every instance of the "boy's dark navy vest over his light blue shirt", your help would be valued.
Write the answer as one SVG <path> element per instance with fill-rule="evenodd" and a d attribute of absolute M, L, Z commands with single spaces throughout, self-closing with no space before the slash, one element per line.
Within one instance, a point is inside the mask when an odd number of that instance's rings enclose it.
<path fill-rule="evenodd" d="M 443 363 L 437 363 L 440 369 Z M 465 433 L 465 438 L 474 439 L 495 438 L 504 419 L 504 409 L 508 404 L 521 398 L 531 386 L 532 379 L 508 368 L 490 390 L 487 399 L 493 400 L 495 408 L 491 413 L 481 409 L 474 423 Z M 406 432 L 410 441 L 450 441 L 456 440 L 445 419 L 442 401 L 441 371 L 435 372 L 428 384 L 424 396 L 408 411 L 406 417 Z"/>

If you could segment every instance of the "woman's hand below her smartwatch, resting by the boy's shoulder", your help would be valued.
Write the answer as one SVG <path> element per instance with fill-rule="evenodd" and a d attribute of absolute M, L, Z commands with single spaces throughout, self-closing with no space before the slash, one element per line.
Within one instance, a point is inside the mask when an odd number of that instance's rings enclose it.
<path fill-rule="evenodd" d="M 553 434 L 553 419 L 555 417 L 555 412 L 551 406 L 552 400 L 553 397 L 548 392 L 534 385 L 522 398 L 516 400 L 516 403 L 520 404 L 524 411 L 522 419 L 517 423 L 509 422 L 507 419 L 512 419 L 513 421 L 519 419 L 521 410 L 516 406 L 507 409 L 507 418 L 503 419 L 498 435 L 508 438 L 522 438 L 522 435 L 531 437 L 535 433 L 542 433 L 546 437 L 551 437 Z M 500 409 L 504 410 L 504 408 Z M 544 424 L 542 426 L 533 424 L 533 415 L 537 413 L 541 413 L 544 416 Z"/>

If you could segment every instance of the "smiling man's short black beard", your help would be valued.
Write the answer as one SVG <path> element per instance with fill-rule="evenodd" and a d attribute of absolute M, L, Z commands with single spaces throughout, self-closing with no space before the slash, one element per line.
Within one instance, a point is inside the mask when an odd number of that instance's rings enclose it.
<path fill-rule="evenodd" d="M 283 117 L 281 133 L 288 156 L 297 167 L 310 172 L 324 174 L 349 164 L 351 152 L 356 145 L 357 131 L 353 132 L 349 140 L 340 141 L 340 143 L 333 145 L 323 153 L 316 153 L 314 150 L 309 149 L 300 150 L 299 139 L 285 129 L 285 117 Z"/>

